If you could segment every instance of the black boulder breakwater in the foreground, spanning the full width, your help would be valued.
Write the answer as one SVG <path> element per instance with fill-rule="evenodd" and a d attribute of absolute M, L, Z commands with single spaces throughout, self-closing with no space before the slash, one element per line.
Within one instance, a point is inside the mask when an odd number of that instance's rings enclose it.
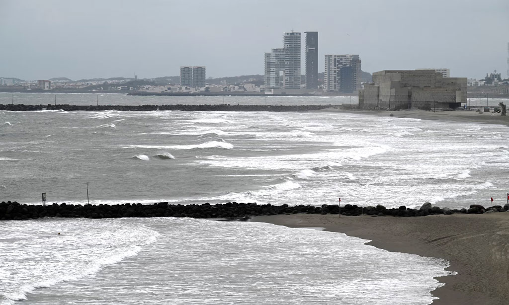
<path fill-rule="evenodd" d="M 376 216 L 399 216 L 418 217 L 435 214 L 450 215 L 453 213 L 482 214 L 491 212 L 504 212 L 509 209 L 508 205 L 500 205 L 485 208 L 480 205 L 471 205 L 466 209 L 449 209 L 432 206 L 427 202 L 419 209 L 407 208 L 404 205 L 398 208 L 386 208 L 383 205 L 361 207 L 346 204 L 345 206 L 327 205 L 295 205 L 288 204 L 271 205 L 257 203 L 217 203 L 217 204 L 168 204 L 158 202 L 154 204 L 125 203 L 125 204 L 99 204 L 80 205 L 53 203 L 50 205 L 20 204 L 17 202 L 0 203 L 0 220 L 26 220 L 42 217 L 65 217 L 65 218 L 121 218 L 121 217 L 192 217 L 192 218 L 223 218 L 247 220 L 251 216 L 278 215 L 278 214 L 340 214 L 345 216 L 370 215 Z"/>

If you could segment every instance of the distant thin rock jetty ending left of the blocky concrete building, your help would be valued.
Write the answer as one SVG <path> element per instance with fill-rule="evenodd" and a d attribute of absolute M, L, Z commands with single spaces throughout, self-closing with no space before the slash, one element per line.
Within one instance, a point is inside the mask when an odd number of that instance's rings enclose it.
<path fill-rule="evenodd" d="M 309 111 L 332 107 L 331 105 L 23 105 L 23 104 L 0 104 L 0 111 L 39 111 L 39 110 L 64 110 L 64 111 Z"/>

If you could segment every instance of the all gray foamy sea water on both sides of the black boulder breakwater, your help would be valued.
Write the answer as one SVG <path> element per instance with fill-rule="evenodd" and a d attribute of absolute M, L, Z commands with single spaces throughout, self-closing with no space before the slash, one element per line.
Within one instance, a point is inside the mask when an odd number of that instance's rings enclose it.
<path fill-rule="evenodd" d="M 25 104 L 47 97 L 23 95 Z M 151 98 L 103 99 L 222 103 Z M 83 204 L 89 182 L 93 204 L 504 204 L 508 137 L 501 125 L 355 113 L 0 111 L 0 201 L 39 204 L 45 192 L 48 203 Z M 428 304 L 433 277 L 447 274 L 445 261 L 269 224 L 39 219 L 0 222 L 0 233 L 2 305 Z"/>

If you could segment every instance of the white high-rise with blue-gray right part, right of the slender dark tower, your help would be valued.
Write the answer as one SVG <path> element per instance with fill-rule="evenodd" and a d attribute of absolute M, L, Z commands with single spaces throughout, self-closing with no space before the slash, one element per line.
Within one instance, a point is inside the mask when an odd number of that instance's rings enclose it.
<path fill-rule="evenodd" d="M 359 55 L 325 55 L 324 89 L 327 92 L 356 93 L 361 88 Z"/>

